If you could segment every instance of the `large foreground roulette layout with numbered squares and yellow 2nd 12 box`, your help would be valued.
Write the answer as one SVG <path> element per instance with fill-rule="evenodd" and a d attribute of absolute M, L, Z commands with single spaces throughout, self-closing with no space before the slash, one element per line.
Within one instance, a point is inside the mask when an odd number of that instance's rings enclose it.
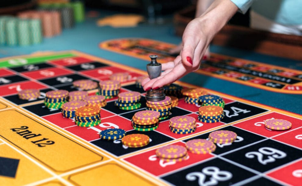
<path fill-rule="evenodd" d="M 145 92 L 138 86 L 136 77 L 146 73 L 137 69 L 125 68 L 121 64 L 76 51 L 17 57 L 2 60 L 0 64 L 7 66 L 0 69 L 1 183 L 84 185 L 99 181 L 99 175 L 106 177 L 102 180 L 104 184 L 121 185 L 206 185 L 212 183 L 209 179 L 216 185 L 299 183 L 302 164 L 301 115 L 202 89 L 217 96 L 213 97 L 219 101 L 215 112 L 207 112 L 205 108 L 211 105 L 203 103 L 200 107 L 196 104 L 196 98 L 190 91 L 193 89 L 179 91 L 180 87 L 198 87 L 178 82 L 171 85 L 169 93 L 181 92 L 185 98 L 180 98 L 177 103 L 172 99 L 161 103 L 162 107 L 171 105 L 171 110 L 167 118 L 162 117 L 157 123 L 160 116 L 144 118 L 142 113 L 145 108 L 152 111 L 157 105 L 144 99 Z M 120 105 L 121 101 L 129 99 L 127 94 L 107 97 L 100 113 L 89 112 L 89 116 L 85 111 L 69 111 L 68 105 L 66 112 L 53 108 L 52 102 L 56 98 L 50 94 L 51 91 L 78 91 L 74 83 L 77 80 L 106 81 L 112 74 L 125 72 L 130 78 L 121 84 L 119 91 L 141 93 L 136 96 L 140 97 L 138 109 L 120 109 L 124 106 Z M 33 92 L 30 100 L 20 99 L 28 98 L 22 90 L 29 88 L 38 89 L 39 95 Z M 96 92 L 99 90 L 89 90 L 88 95 L 95 95 Z M 120 101 L 117 101 L 118 98 Z M 59 98 L 64 102 L 63 99 L 64 96 Z M 45 100 L 49 101 L 47 106 Z M 135 98 L 131 103 L 136 105 L 137 101 Z M 224 107 L 223 113 L 221 107 Z M 101 118 L 101 122 L 95 126 L 81 126 L 83 124 L 73 118 L 63 117 L 62 112 L 74 114 L 77 119 L 85 121 L 87 117 Z M 167 111 L 163 112 L 166 114 Z M 181 123 L 178 117 L 185 117 L 191 122 Z M 135 121 L 132 124 L 131 119 Z M 143 121 L 153 120 L 156 123 L 149 125 L 156 126 L 156 129 L 143 130 L 146 124 Z M 271 129 L 271 121 L 285 121 L 290 129 Z M 181 125 L 183 128 L 180 128 Z M 142 130 L 134 130 L 134 127 Z M 113 140 L 108 140 L 107 130 L 116 133 Z M 182 134 L 179 130 L 186 131 Z M 233 137 L 223 138 L 228 131 Z M 141 144 L 129 144 L 129 139 L 124 137 L 140 137 L 142 141 Z M 207 149 L 194 147 L 196 143 L 206 142 L 200 139 L 207 138 L 213 142 L 208 144 Z M 162 153 L 167 147 L 178 148 L 184 153 L 173 154 L 176 158 L 171 158 Z M 10 165 L 9 170 L 5 165 Z M 117 180 L 122 182 L 116 183 Z"/>

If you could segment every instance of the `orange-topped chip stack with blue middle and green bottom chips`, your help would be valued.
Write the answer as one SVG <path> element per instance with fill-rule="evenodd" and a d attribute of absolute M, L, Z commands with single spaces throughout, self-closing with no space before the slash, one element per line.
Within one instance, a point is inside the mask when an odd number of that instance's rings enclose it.
<path fill-rule="evenodd" d="M 81 127 L 96 126 L 101 123 L 99 107 L 85 106 L 78 108 L 75 112 L 75 124 Z"/>

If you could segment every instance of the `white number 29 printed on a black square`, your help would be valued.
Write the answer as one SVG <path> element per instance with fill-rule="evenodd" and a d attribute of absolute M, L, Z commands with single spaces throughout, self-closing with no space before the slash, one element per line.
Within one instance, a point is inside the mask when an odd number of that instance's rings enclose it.
<path fill-rule="evenodd" d="M 268 159 L 264 159 L 263 155 L 268 155 Z M 246 158 L 254 158 L 257 156 L 258 161 L 262 165 L 266 165 L 267 163 L 275 162 L 276 159 L 282 159 L 286 157 L 286 153 L 271 147 L 261 147 L 258 152 L 248 152 L 245 154 Z"/>

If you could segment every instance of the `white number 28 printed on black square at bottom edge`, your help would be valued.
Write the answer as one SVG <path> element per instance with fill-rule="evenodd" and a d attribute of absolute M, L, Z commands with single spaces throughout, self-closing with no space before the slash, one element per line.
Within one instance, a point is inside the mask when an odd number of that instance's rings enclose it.
<path fill-rule="evenodd" d="M 209 181 L 205 181 L 207 176 L 211 176 Z M 186 175 L 189 181 L 198 179 L 200 186 L 217 185 L 219 181 L 227 181 L 233 177 L 232 173 L 220 170 L 218 167 L 209 166 L 201 170 L 201 172 L 192 172 Z"/>

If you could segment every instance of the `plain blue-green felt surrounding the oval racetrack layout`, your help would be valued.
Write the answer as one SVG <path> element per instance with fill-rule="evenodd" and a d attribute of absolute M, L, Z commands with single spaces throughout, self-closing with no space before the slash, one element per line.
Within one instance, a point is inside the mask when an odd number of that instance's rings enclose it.
<path fill-rule="evenodd" d="M 115 13 L 118 12 L 102 11 L 99 17 Z M 0 57 L 31 54 L 37 51 L 78 50 L 97 57 L 146 70 L 147 61 L 102 50 L 98 46 L 99 43 L 109 39 L 129 37 L 149 38 L 174 44 L 178 44 L 182 40 L 181 37 L 174 34 L 171 19 L 165 24 L 156 25 L 142 23 L 139 24 L 138 27 L 131 28 L 113 28 L 110 26 L 97 27 L 95 22 L 96 18 L 86 18 L 85 22 L 77 24 L 75 28 L 63 30 L 62 35 L 44 39 L 43 43 L 39 45 L 26 47 L 1 46 Z M 211 46 L 210 50 L 214 53 L 302 70 L 302 62 L 297 60 L 273 57 L 251 51 L 220 46 Z M 181 80 L 286 111 L 302 114 L 302 95 L 271 92 L 196 73 L 190 73 Z"/>

